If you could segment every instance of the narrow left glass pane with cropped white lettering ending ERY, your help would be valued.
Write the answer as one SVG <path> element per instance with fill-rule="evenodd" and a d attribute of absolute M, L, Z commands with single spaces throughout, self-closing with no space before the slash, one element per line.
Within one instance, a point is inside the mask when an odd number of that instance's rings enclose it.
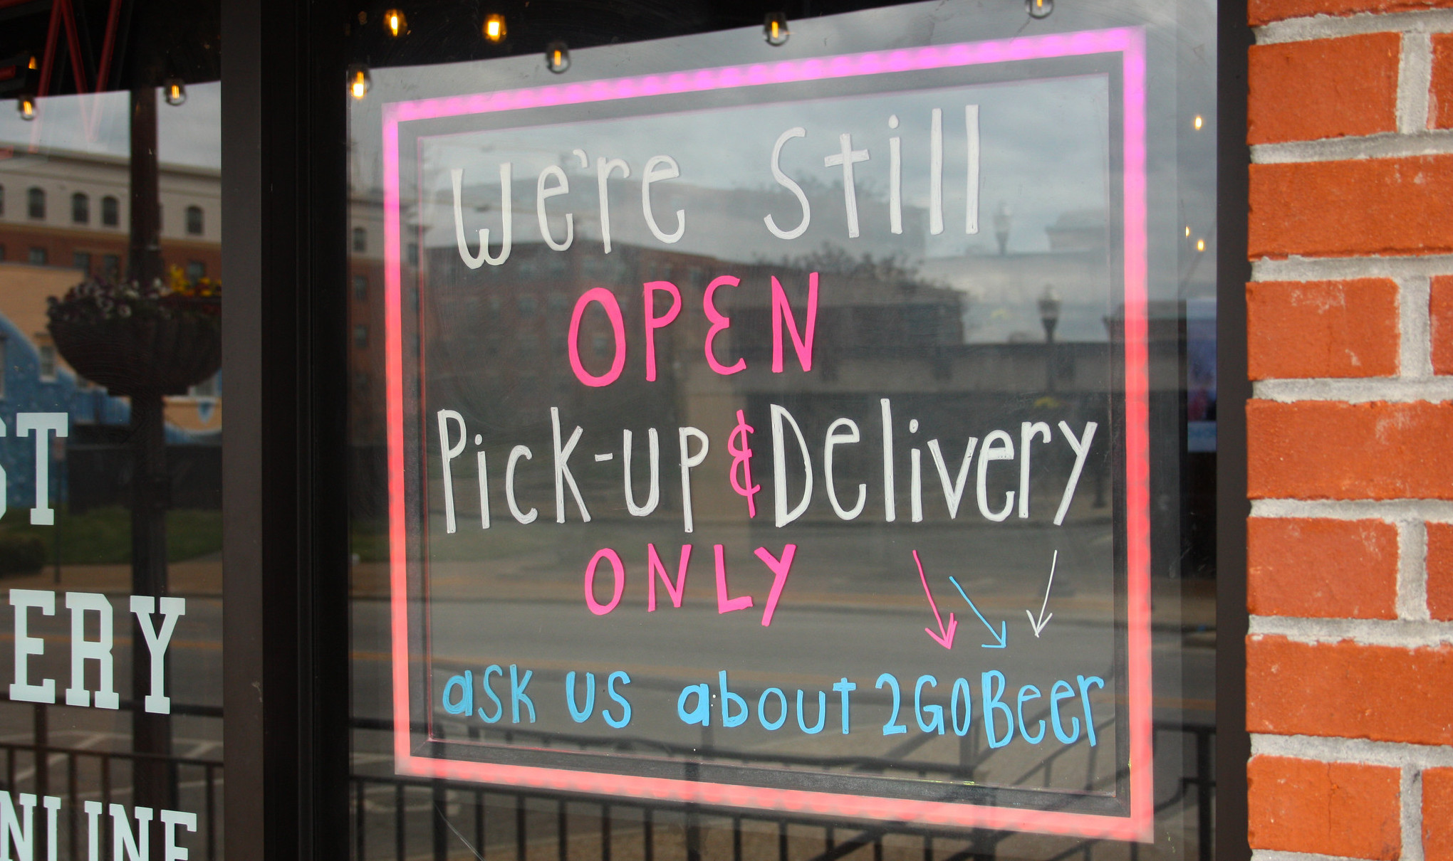
<path fill-rule="evenodd" d="M 99 49 L 105 16 L 76 10 Z M 9 45 L 49 7 L 6 15 Z M 148 38 L 129 38 L 129 62 L 157 62 Z M 193 83 L 169 106 L 153 87 L 51 86 L 64 90 L 36 99 L 32 121 L 0 110 L 0 183 L 25 203 L 0 219 L 20 257 L 0 261 L 0 819 L 22 810 L 26 858 L 122 844 L 219 858 L 222 411 L 189 389 L 219 373 L 219 285 L 205 274 L 221 245 L 129 216 L 132 202 L 158 213 L 160 197 L 215 206 L 221 87 Z"/>

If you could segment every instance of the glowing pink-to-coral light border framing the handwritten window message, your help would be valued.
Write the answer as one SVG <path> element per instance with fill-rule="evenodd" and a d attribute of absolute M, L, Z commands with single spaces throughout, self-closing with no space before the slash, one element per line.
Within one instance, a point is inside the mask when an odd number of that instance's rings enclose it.
<path fill-rule="evenodd" d="M 695 783 L 416 756 L 410 746 L 408 559 L 404 508 L 404 369 L 398 126 L 402 122 L 474 113 L 700 93 L 774 83 L 924 71 L 1016 60 L 1119 52 L 1123 58 L 1125 123 L 1125 441 L 1128 563 L 1128 711 L 1130 815 L 1104 816 L 1020 810 L 963 803 L 882 799 L 840 793 Z M 472 96 L 394 102 L 384 106 L 384 266 L 388 425 L 389 582 L 394 675 L 394 758 L 400 774 L 574 793 L 692 801 L 947 828 L 1030 831 L 1081 838 L 1151 841 L 1151 542 L 1149 376 L 1146 350 L 1145 35 L 1117 28 L 1023 36 L 904 51 L 846 54 L 772 64 L 702 68 L 663 76 L 501 90 Z"/>

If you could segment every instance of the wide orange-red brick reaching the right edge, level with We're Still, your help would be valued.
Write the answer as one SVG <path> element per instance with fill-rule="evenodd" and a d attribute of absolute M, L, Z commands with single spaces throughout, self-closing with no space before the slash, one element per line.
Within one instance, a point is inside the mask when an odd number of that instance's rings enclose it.
<path fill-rule="evenodd" d="M 1251 166 L 1248 254 L 1453 251 L 1453 155 Z"/>

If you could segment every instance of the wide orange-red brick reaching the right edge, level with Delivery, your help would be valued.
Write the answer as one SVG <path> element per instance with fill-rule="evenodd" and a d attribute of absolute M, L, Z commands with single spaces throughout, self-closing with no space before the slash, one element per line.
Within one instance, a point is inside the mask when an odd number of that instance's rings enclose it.
<path fill-rule="evenodd" d="M 1247 404 L 1252 499 L 1453 499 L 1453 402 Z"/>

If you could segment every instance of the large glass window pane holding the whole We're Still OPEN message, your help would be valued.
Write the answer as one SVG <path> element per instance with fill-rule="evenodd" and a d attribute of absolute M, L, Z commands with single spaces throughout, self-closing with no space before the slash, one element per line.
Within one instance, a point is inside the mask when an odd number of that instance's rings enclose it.
<path fill-rule="evenodd" d="M 360 35 L 360 858 L 1213 855 L 1215 9 L 851 6 Z"/>

